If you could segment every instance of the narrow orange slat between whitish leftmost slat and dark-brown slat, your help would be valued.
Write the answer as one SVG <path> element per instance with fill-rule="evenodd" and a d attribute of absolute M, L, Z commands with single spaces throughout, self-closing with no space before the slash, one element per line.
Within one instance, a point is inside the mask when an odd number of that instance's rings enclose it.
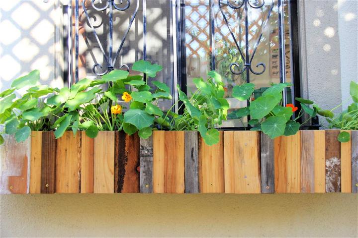
<path fill-rule="evenodd" d="M 41 193 L 42 131 L 31 131 L 30 193 Z"/>

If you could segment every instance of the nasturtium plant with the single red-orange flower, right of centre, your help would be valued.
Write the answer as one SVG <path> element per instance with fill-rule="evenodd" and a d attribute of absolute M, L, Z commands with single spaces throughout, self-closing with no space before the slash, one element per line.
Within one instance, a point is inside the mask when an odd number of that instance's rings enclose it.
<path fill-rule="evenodd" d="M 252 101 L 249 107 L 232 112 L 230 117 L 242 119 L 250 115 L 251 120 L 248 121 L 248 124 L 251 126 L 251 130 L 263 131 L 269 135 L 270 138 L 296 134 L 301 126 L 301 124 L 297 122 L 297 119 L 302 117 L 303 112 L 307 113 L 310 119 L 316 116 L 318 109 L 317 107 L 310 106 L 313 104 L 312 101 L 296 98 L 302 109 L 297 117 L 293 119 L 293 113 L 297 111 L 298 108 L 293 104 L 283 106 L 282 103 L 282 92 L 289 86 L 291 86 L 289 83 L 273 84 L 263 92 L 262 96 Z M 244 83 L 233 88 L 233 96 L 239 101 L 250 100 L 254 89 L 254 84 Z"/>

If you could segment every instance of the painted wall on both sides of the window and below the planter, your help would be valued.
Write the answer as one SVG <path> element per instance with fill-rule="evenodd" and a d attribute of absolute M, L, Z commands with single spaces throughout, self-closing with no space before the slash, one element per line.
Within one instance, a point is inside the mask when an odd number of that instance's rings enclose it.
<path fill-rule="evenodd" d="M 325 108 L 357 80 L 357 4 L 299 1 L 302 91 Z M 35 68 L 60 87 L 54 1 L 0 9 L 1 90 Z M 1 195 L 0 237 L 357 237 L 357 211 L 357 195 L 334 193 Z"/>

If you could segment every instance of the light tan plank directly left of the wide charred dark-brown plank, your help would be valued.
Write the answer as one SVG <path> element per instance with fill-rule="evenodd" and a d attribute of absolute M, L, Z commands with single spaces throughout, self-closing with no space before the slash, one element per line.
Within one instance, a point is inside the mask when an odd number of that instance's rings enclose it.
<path fill-rule="evenodd" d="M 94 138 L 93 193 L 114 192 L 114 131 L 99 131 Z"/>

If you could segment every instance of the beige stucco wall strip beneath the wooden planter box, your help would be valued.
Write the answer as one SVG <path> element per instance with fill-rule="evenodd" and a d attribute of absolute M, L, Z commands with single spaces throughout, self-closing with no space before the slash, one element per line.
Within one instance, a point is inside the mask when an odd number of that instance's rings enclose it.
<path fill-rule="evenodd" d="M 1 237 L 357 237 L 357 194 L 1 195 Z"/>

